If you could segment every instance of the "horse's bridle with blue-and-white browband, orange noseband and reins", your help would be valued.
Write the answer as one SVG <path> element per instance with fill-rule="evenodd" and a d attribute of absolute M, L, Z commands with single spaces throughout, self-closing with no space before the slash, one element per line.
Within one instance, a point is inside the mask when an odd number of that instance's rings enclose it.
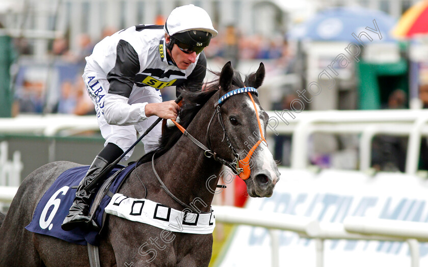
<path fill-rule="evenodd" d="M 183 133 L 184 136 L 188 137 L 193 143 L 195 143 L 197 146 L 199 146 L 200 148 L 202 148 L 205 151 L 204 154 L 206 157 L 212 157 L 215 161 L 220 162 L 223 165 L 226 165 L 227 167 L 229 167 L 232 170 L 232 172 L 235 175 L 238 175 L 243 180 L 247 180 L 250 177 L 250 173 L 251 173 L 250 159 L 251 159 L 251 156 L 253 155 L 254 151 L 256 150 L 256 148 L 261 144 L 262 141 L 264 141 L 266 143 L 266 145 L 268 144 L 263 137 L 263 131 L 261 129 L 261 124 L 260 124 L 260 119 L 258 116 L 258 111 L 256 108 L 256 103 L 254 102 L 254 99 L 251 95 L 251 92 L 258 95 L 257 89 L 255 89 L 253 87 L 244 87 L 244 88 L 239 88 L 239 89 L 235 89 L 233 91 L 230 91 L 230 92 L 226 93 L 225 95 L 223 95 L 222 97 L 220 97 L 220 99 L 214 105 L 216 110 L 213 112 L 211 119 L 209 120 L 209 123 L 207 126 L 206 140 L 208 142 L 208 147 L 210 147 L 209 135 L 208 135 L 209 127 L 211 125 L 212 119 L 217 115 L 217 118 L 218 118 L 219 123 L 222 127 L 222 130 L 223 130 L 223 140 L 226 139 L 227 145 L 230 148 L 230 150 L 232 151 L 233 156 L 235 157 L 232 162 L 229 162 L 226 159 L 217 156 L 216 152 L 213 152 L 211 149 L 204 146 L 201 142 L 196 140 L 180 124 L 178 124 L 175 120 L 172 120 L 174 122 L 174 124 L 178 127 L 178 129 L 180 129 L 180 131 Z M 259 130 L 260 130 L 260 140 L 257 141 L 256 144 L 254 144 L 254 146 L 251 148 L 251 150 L 248 152 L 247 156 L 244 159 L 239 159 L 239 154 L 236 152 L 236 149 L 233 147 L 233 145 L 230 142 L 230 139 L 227 135 L 226 128 L 225 128 L 224 123 L 223 123 L 223 119 L 222 119 L 220 109 L 221 109 L 221 105 L 224 103 L 224 101 L 226 99 L 228 99 L 229 97 L 231 97 L 233 95 L 242 94 L 242 93 L 248 93 L 251 101 L 253 102 L 254 110 L 256 111 L 257 123 L 258 123 Z"/>

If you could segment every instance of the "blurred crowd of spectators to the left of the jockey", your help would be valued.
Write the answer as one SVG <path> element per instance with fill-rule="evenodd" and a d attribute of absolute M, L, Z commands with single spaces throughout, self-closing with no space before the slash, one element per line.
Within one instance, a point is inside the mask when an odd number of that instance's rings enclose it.
<path fill-rule="evenodd" d="M 114 28 L 105 28 L 99 40 L 81 34 L 74 52 L 67 38 L 54 39 L 49 44 L 48 63 L 34 64 L 30 61 L 25 64 L 24 61 L 20 64 L 15 77 L 12 116 L 22 113 L 95 114 L 94 104 L 82 79 L 85 57 L 92 54 L 98 41 L 116 31 Z M 32 54 L 32 47 L 25 39 L 14 41 L 20 56 Z"/>

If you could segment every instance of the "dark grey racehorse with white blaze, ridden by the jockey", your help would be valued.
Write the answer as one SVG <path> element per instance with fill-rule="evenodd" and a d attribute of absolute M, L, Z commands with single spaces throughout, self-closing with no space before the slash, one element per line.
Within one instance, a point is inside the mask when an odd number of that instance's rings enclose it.
<path fill-rule="evenodd" d="M 264 140 L 266 135 L 268 115 L 256 94 L 251 93 L 251 97 L 247 93 L 235 94 L 219 108 L 215 107 L 219 99 L 232 90 L 260 87 L 264 66 L 260 64 L 256 72 L 245 77 L 245 81 L 232 69 L 230 62 L 216 74 L 217 78 L 203 91 L 183 92 L 185 102 L 179 114 L 181 125 L 205 144 L 210 153 L 207 155 L 177 128 L 166 128 L 159 148 L 142 158 L 145 163 L 131 172 L 121 186 L 120 194 L 132 198 L 146 196 L 157 203 L 183 210 L 184 207 L 161 188 L 154 175 L 152 156 L 155 153 L 153 163 L 166 188 L 181 203 L 190 204 L 198 198 L 198 203 L 206 204 L 199 205 L 201 212 L 209 212 L 223 163 L 233 167 L 230 163 L 236 163 L 236 154 L 243 155 L 242 159 L 249 150 L 252 150 L 251 173 L 245 179 L 249 196 L 270 197 L 273 194 L 279 172 L 272 154 L 265 145 L 252 148 L 248 145 L 250 140 Z M 220 114 L 215 116 L 216 109 Z M 86 246 L 24 229 L 53 181 L 64 171 L 77 166 L 81 165 L 49 163 L 23 180 L 6 218 L 0 216 L 0 266 L 89 266 Z M 165 243 L 161 238 L 163 229 L 117 216 L 108 217 L 108 227 L 104 228 L 99 245 L 101 266 L 200 267 L 209 264 L 212 234 L 174 232 Z"/>

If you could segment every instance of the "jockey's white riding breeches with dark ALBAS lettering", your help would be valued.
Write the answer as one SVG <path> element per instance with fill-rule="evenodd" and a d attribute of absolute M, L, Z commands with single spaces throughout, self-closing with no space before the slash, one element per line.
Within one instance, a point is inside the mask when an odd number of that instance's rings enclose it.
<path fill-rule="evenodd" d="M 86 89 L 92 102 L 95 105 L 97 113 L 98 126 L 101 130 L 101 135 L 105 139 L 104 146 L 108 143 L 114 143 L 123 151 L 126 151 L 138 139 L 138 134 L 142 134 L 156 119 L 156 116 L 151 116 L 144 121 L 133 125 L 112 125 L 108 124 L 103 115 L 104 97 L 109 91 L 110 83 L 107 81 L 106 75 L 102 74 L 90 64 L 85 67 L 82 75 Z M 161 92 L 152 87 L 137 87 L 133 85 L 132 92 L 128 98 L 128 104 L 133 103 L 160 103 L 162 102 Z M 154 149 L 158 144 L 161 136 L 161 123 L 158 123 L 142 140 L 145 152 Z M 133 152 L 133 149 L 124 157 L 128 159 Z"/>

